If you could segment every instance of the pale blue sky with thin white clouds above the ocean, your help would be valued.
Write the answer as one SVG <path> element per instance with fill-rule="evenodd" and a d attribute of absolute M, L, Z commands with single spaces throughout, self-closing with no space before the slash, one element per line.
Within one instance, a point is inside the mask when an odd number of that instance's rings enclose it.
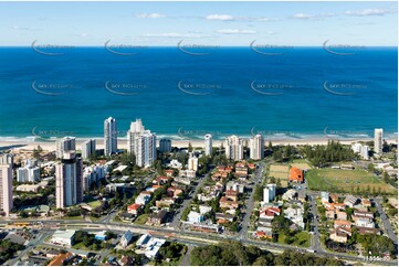
<path fill-rule="evenodd" d="M 0 2 L 0 46 L 397 46 L 396 2 Z"/>

